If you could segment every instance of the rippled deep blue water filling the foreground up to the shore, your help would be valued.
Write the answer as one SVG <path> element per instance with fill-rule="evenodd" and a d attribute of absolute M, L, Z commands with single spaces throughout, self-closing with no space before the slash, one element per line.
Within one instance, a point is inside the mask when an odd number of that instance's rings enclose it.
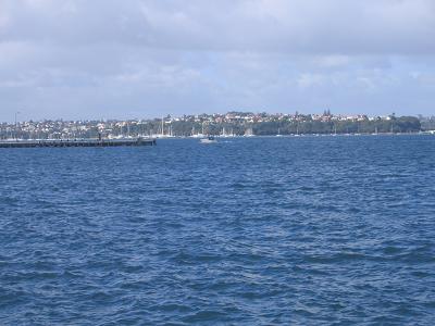
<path fill-rule="evenodd" d="M 435 137 L 0 151 L 1 325 L 433 325 Z"/>

